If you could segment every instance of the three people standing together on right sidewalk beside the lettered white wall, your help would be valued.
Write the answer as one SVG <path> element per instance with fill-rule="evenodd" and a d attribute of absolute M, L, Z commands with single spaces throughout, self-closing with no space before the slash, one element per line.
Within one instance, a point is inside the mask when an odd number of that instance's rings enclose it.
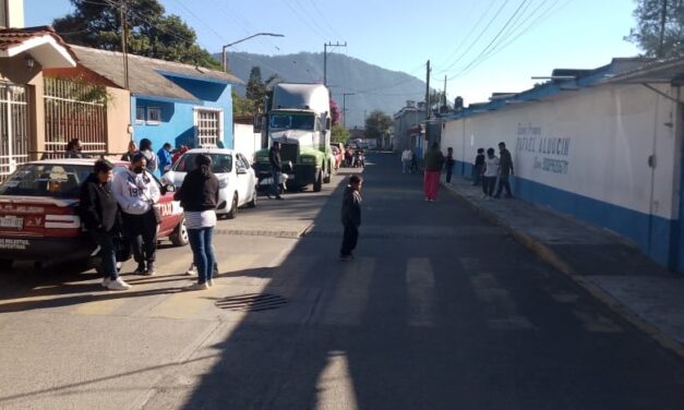
<path fill-rule="evenodd" d="M 487 156 L 484 148 L 478 148 L 472 172 L 472 184 L 482 184 L 482 198 L 500 198 L 504 190 L 506 191 L 505 197 L 513 197 L 509 181 L 514 172 L 513 157 L 506 149 L 505 143 L 499 143 L 499 157 L 494 154 L 494 148 L 487 149 Z M 496 188 L 496 179 L 499 179 L 499 188 Z"/>

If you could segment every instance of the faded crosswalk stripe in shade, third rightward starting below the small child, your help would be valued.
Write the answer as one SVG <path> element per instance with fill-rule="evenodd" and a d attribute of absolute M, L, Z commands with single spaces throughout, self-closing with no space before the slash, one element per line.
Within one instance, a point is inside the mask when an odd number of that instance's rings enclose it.
<path fill-rule="evenodd" d="M 529 319 L 517 312 L 511 293 L 504 289 L 493 275 L 480 273 L 470 277 L 470 284 L 482 302 L 488 326 L 493 330 L 533 329 Z"/>

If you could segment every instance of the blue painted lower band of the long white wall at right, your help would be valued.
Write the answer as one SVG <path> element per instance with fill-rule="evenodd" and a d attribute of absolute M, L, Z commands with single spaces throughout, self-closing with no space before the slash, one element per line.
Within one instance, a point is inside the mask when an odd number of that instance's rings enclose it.
<path fill-rule="evenodd" d="M 455 173 L 471 178 L 472 164 L 457 161 Z M 682 171 L 684 176 L 684 170 Z M 651 216 L 597 201 L 539 182 L 512 177 L 513 194 L 527 202 L 545 206 L 589 224 L 612 230 L 632 240 L 659 264 L 682 270 L 684 261 L 672 257 L 675 252 L 676 221 Z M 652 232 L 649 234 L 649 232 Z M 680 242 L 681 243 L 681 242 Z"/>

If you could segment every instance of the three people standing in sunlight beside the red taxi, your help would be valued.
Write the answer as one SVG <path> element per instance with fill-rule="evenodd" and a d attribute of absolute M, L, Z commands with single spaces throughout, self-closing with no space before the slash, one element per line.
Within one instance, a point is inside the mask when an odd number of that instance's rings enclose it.
<path fill-rule="evenodd" d="M 141 147 L 148 148 L 143 142 Z M 81 188 L 80 214 L 86 230 L 100 248 L 101 285 L 110 290 L 131 288 L 119 276 L 117 267 L 117 249 L 122 237 L 128 240 L 137 264 L 133 274 L 156 275 L 157 231 L 161 220 L 155 205 L 161 192 L 143 150 L 128 160 L 129 168 L 116 176 L 111 162 L 97 160 Z M 212 172 L 211 157 L 199 155 L 195 162 L 195 169 L 188 173 L 175 194 L 184 210 L 193 264 L 197 269 L 197 282 L 188 290 L 213 286 L 215 257 L 212 236 L 216 226 L 219 189 L 218 179 Z"/>

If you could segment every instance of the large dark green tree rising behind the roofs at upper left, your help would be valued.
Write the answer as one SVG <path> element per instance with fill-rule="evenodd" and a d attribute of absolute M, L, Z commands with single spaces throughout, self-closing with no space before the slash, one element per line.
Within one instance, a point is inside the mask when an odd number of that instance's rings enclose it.
<path fill-rule="evenodd" d="M 74 11 L 52 22 L 68 43 L 121 51 L 120 1 L 70 0 Z M 158 0 L 125 0 L 128 49 L 131 53 L 218 69 L 196 44 L 197 36 L 177 15 L 166 15 Z"/>

